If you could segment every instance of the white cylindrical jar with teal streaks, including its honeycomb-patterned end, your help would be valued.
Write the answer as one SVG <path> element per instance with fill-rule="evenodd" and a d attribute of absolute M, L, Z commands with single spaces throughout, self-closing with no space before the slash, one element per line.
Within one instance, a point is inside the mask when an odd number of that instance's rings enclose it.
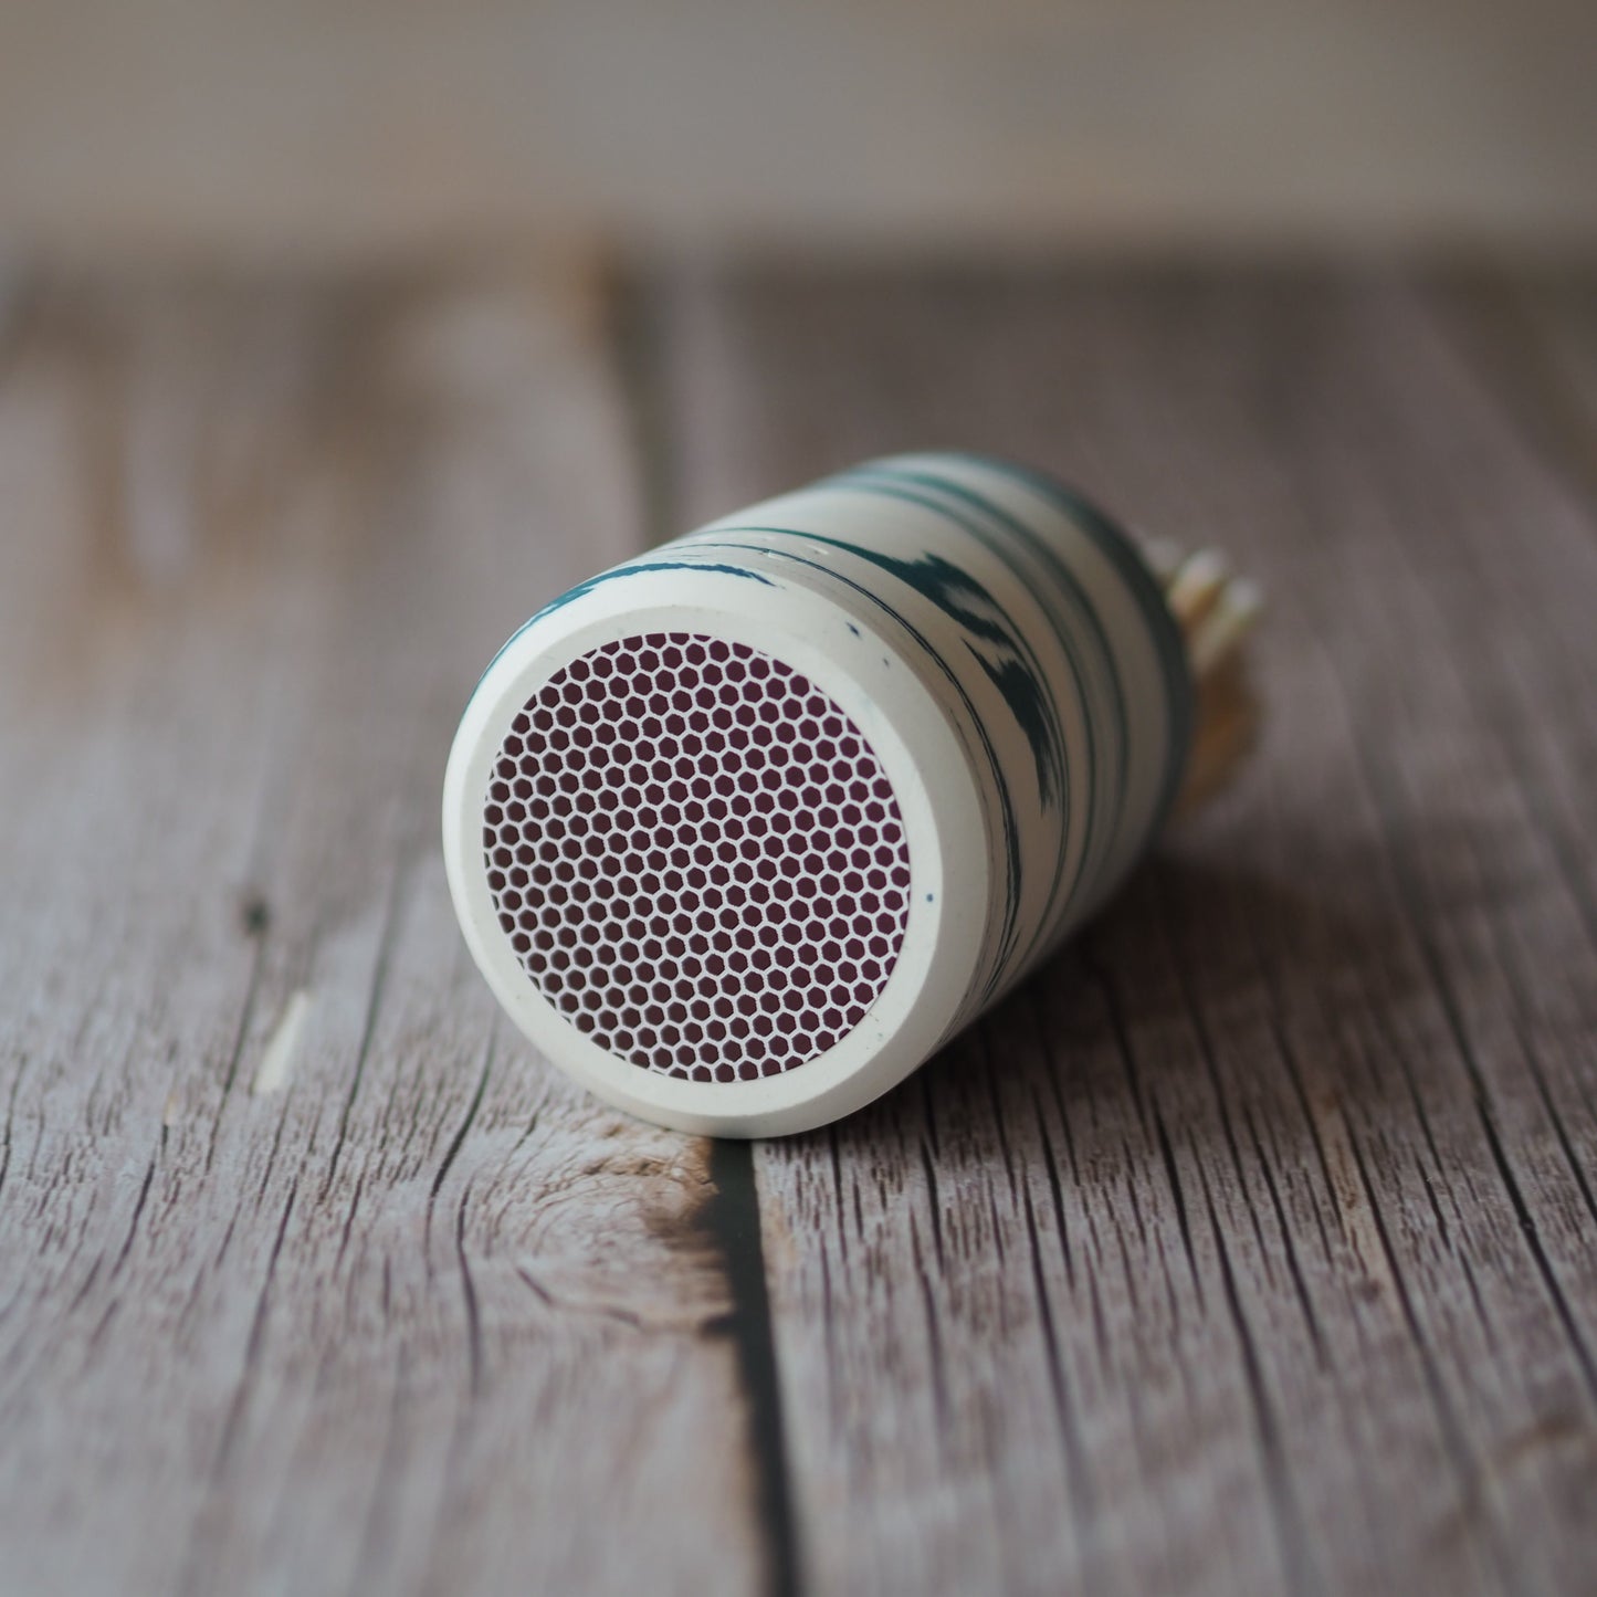
<path fill-rule="evenodd" d="M 1001 460 L 875 460 L 511 637 L 449 762 L 450 891 L 498 1000 L 592 1091 L 802 1131 L 1102 902 L 1193 717 L 1163 589 L 1100 511 Z"/>

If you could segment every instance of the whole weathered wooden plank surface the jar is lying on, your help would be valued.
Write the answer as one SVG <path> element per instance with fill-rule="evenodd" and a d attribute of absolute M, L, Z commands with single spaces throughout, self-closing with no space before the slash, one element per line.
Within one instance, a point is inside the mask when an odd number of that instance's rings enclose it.
<path fill-rule="evenodd" d="M 1591 305 L 8 284 L 0 1592 L 1586 1591 Z M 612 1115 L 460 945 L 454 717 L 645 529 L 936 444 L 1255 572 L 1260 757 L 867 1113 Z"/>

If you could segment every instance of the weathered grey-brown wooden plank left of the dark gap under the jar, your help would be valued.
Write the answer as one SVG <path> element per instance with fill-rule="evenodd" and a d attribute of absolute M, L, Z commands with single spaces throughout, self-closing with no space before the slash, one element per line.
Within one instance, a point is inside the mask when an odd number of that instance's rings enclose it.
<path fill-rule="evenodd" d="M 474 674 L 639 535 L 581 284 L 0 339 L 0 1589 L 747 1591 L 704 1143 L 497 1016 Z"/>

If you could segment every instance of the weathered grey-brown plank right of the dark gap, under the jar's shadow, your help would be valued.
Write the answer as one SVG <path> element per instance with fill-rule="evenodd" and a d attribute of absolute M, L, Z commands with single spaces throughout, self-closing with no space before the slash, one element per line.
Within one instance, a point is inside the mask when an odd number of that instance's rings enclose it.
<path fill-rule="evenodd" d="M 1266 746 L 918 1080 L 762 1147 L 819 1589 L 1597 1567 L 1597 540 L 1378 278 L 684 276 L 677 519 L 1051 465 L 1271 596 Z"/>

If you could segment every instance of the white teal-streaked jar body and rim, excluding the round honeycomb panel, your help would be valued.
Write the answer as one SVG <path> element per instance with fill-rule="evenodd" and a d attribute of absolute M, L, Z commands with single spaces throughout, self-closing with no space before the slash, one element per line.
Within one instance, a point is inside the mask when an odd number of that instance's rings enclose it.
<path fill-rule="evenodd" d="M 853 719 L 898 795 L 898 961 L 859 1025 L 781 1075 L 688 1081 L 612 1056 L 551 1006 L 497 918 L 482 811 L 511 720 L 572 660 L 648 632 L 792 666 Z M 684 1131 L 803 1131 L 901 1081 L 1102 902 L 1169 808 L 1191 719 L 1179 629 L 1099 511 L 985 457 L 869 462 L 600 573 L 511 637 L 450 754 L 449 885 L 500 1003 L 592 1091 Z"/>

